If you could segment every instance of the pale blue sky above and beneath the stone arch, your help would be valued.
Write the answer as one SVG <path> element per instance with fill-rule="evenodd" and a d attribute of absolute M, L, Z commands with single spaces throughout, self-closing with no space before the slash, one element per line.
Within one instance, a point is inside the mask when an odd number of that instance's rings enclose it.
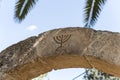
<path fill-rule="evenodd" d="M 85 0 L 39 0 L 22 23 L 14 19 L 15 1 L 0 0 L 0 52 L 12 44 L 51 29 L 84 26 Z M 93 28 L 120 32 L 119 3 L 120 0 L 107 0 Z M 49 77 L 52 80 L 70 80 L 74 77 L 73 73 L 77 76 L 82 72 L 81 69 L 52 71 Z"/>

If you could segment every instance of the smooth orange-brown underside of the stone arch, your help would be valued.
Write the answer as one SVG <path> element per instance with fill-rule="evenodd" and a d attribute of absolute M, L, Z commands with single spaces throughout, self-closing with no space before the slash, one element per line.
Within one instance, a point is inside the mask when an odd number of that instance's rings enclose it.
<path fill-rule="evenodd" d="M 100 71 L 109 74 L 113 74 L 113 73 L 116 74 L 116 72 L 119 69 L 119 67 L 118 68 L 116 67 L 113 70 L 112 64 L 109 64 L 103 60 L 99 60 L 98 58 L 91 56 L 84 57 L 84 56 L 75 56 L 75 55 L 62 55 L 59 57 L 49 57 L 49 58 L 37 59 L 35 61 L 31 61 L 30 63 L 27 63 L 24 66 L 22 65 L 21 67 L 19 67 L 18 71 L 16 72 L 13 71 L 14 73 L 9 75 L 11 75 L 16 79 L 19 78 L 21 80 L 25 80 L 25 79 L 29 80 L 39 76 L 40 74 L 47 73 L 52 69 L 58 70 L 65 68 L 93 68 L 92 66 L 94 66 L 96 69 Z M 119 74 L 117 73 L 115 76 L 119 76 Z"/>

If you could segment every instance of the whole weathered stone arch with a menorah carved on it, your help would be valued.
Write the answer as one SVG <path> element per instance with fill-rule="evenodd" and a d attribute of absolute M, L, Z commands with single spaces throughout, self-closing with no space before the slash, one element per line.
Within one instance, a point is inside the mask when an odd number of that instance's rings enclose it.
<path fill-rule="evenodd" d="M 62 28 L 0 53 L 0 80 L 29 80 L 52 69 L 80 67 L 95 67 L 120 77 L 120 33 Z"/>

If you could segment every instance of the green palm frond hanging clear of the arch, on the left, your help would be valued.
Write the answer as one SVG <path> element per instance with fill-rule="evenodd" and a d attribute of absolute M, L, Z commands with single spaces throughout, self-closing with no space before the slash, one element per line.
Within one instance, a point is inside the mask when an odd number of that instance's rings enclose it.
<path fill-rule="evenodd" d="M 15 6 L 15 19 L 21 22 L 38 0 L 18 0 Z"/>

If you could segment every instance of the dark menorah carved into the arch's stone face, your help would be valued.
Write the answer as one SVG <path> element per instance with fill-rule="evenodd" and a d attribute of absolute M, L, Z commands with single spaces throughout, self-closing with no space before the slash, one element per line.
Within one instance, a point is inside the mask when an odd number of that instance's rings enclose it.
<path fill-rule="evenodd" d="M 70 39 L 71 34 L 62 34 L 62 35 L 58 35 L 53 37 L 53 39 L 55 40 L 56 43 L 60 44 L 59 47 L 62 47 L 63 44 L 68 41 L 68 39 Z"/>

